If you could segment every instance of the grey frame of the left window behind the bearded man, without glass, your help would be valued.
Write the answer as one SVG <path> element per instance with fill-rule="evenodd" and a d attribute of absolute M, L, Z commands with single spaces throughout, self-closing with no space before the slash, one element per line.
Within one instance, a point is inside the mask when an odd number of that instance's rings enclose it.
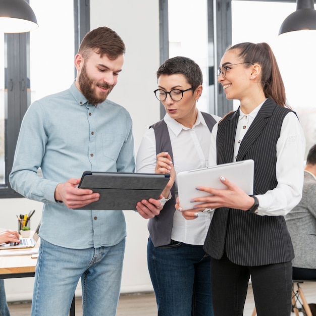
<path fill-rule="evenodd" d="M 28 3 L 29 1 L 26 0 Z M 90 1 L 74 0 L 74 55 L 84 35 L 90 30 Z M 7 72 L 5 78 L 5 184 L 0 184 L 0 198 L 23 197 L 9 183 L 15 148 L 25 112 L 30 106 L 30 33 L 6 33 Z M 76 70 L 74 68 L 75 76 Z"/>

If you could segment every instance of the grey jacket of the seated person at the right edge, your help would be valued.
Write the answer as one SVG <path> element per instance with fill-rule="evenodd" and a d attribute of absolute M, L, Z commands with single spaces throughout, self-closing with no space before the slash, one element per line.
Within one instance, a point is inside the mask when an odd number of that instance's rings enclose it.
<path fill-rule="evenodd" d="M 307 171 L 302 198 L 285 220 L 294 246 L 293 267 L 316 269 L 316 179 Z"/>

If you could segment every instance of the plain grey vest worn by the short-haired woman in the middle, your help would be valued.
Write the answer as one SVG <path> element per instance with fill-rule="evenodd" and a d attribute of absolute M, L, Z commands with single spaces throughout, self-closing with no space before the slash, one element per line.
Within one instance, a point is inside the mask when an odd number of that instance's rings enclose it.
<path fill-rule="evenodd" d="M 201 112 L 201 114 L 209 131 L 212 132 L 213 126 L 216 124 L 216 120 L 213 118 L 212 115 L 208 113 Z M 166 122 L 164 120 L 161 120 L 151 125 L 150 127 L 154 129 L 154 135 L 156 139 L 156 153 L 158 154 L 162 151 L 167 151 L 169 152 L 171 160 L 173 161 L 172 146 Z M 171 188 L 171 194 L 171 199 L 167 201 L 160 214 L 152 219 L 149 219 L 148 221 L 150 238 L 155 247 L 169 245 L 171 242 L 173 215 L 176 210 L 176 196 L 174 185 Z"/>

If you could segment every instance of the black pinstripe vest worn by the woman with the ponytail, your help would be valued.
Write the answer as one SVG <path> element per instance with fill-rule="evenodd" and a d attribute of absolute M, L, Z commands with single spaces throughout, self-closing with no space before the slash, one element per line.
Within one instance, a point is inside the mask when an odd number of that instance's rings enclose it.
<path fill-rule="evenodd" d="M 289 112 L 268 98 L 241 141 L 237 161 L 254 160 L 254 194 L 264 194 L 277 186 L 276 144 Z M 239 110 L 219 123 L 218 164 L 233 162 L 238 116 Z M 204 250 L 215 259 L 226 251 L 228 258 L 241 266 L 276 264 L 294 258 L 283 216 L 258 216 L 227 207 L 215 210 Z"/>

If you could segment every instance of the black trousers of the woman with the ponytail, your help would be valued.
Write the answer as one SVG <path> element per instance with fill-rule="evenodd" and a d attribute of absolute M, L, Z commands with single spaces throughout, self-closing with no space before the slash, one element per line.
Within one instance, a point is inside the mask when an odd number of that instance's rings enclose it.
<path fill-rule="evenodd" d="M 291 261 L 245 267 L 233 264 L 224 254 L 220 260 L 212 258 L 210 266 L 215 316 L 243 315 L 250 276 L 257 316 L 291 315 Z"/>

